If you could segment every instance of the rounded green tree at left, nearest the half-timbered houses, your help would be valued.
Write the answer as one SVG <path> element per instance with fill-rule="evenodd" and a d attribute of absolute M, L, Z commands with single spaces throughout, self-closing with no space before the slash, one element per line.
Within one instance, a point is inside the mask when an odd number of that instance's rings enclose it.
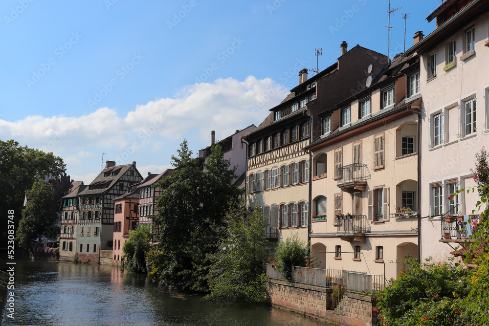
<path fill-rule="evenodd" d="M 55 224 L 58 217 L 54 203 L 54 190 L 48 182 L 35 181 L 26 196 L 27 206 L 22 210 L 22 218 L 17 229 L 17 240 L 25 250 L 34 251 L 34 238 L 56 236 Z"/>

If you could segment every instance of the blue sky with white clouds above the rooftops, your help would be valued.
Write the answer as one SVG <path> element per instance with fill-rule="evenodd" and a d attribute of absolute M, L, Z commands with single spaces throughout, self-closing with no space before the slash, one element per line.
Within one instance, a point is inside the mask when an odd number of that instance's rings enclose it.
<path fill-rule="evenodd" d="M 391 0 L 391 58 L 441 0 Z M 144 176 L 252 124 L 342 41 L 387 55 L 388 0 L 3 0 L 0 139 L 61 156 L 89 184 L 102 154 Z M 322 55 L 315 56 L 315 49 Z M 311 72 L 310 72 L 311 73 Z M 310 75 L 311 76 L 311 75 Z"/>

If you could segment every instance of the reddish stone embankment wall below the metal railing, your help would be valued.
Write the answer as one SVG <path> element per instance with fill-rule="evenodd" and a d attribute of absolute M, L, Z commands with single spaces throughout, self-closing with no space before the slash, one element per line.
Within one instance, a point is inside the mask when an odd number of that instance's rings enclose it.
<path fill-rule="evenodd" d="M 375 326 L 375 300 L 370 296 L 346 293 L 332 309 L 331 288 L 269 279 L 267 296 L 274 306 L 340 326 Z"/>

